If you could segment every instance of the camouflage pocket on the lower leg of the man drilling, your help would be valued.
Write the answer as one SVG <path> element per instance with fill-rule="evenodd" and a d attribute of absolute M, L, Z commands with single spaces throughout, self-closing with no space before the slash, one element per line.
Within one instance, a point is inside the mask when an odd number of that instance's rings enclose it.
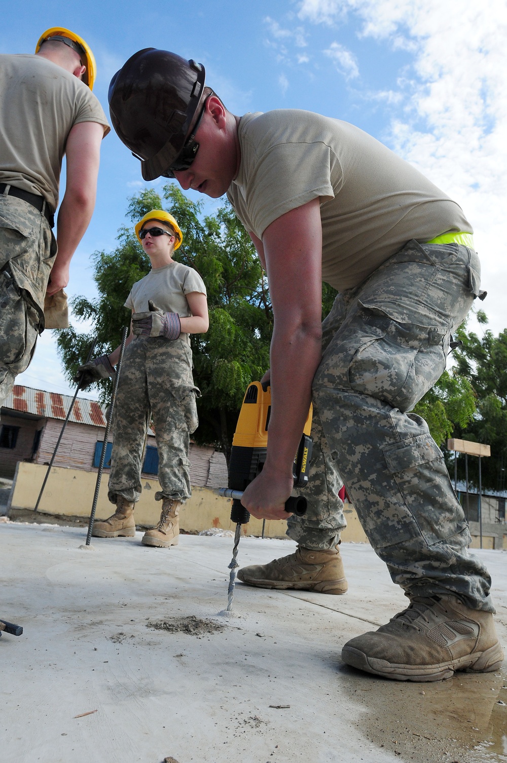
<path fill-rule="evenodd" d="M 463 511 L 450 485 L 441 449 L 430 435 L 382 450 L 405 507 L 429 546 L 463 530 Z"/>

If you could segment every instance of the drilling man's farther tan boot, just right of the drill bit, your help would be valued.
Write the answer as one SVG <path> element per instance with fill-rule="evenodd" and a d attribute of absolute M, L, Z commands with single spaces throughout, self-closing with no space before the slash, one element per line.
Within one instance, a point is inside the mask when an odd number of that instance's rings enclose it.
<path fill-rule="evenodd" d="M 269 565 L 244 567 L 237 577 L 259 588 L 294 588 L 296 591 L 318 591 L 321 594 L 344 594 L 348 588 L 337 547 L 314 551 L 298 546 L 295 554 L 273 559 Z"/>

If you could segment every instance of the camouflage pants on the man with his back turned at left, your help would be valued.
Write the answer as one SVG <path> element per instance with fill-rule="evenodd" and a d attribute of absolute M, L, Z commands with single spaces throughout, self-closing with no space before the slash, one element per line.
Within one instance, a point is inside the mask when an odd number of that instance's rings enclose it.
<path fill-rule="evenodd" d="M 30 365 L 44 330 L 44 295 L 57 245 L 44 215 L 0 195 L 0 405 Z"/>

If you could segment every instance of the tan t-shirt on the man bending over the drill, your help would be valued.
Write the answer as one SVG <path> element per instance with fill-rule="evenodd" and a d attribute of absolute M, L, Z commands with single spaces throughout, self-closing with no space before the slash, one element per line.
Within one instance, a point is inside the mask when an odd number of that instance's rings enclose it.
<path fill-rule="evenodd" d="M 262 239 L 282 214 L 321 199 L 322 279 L 353 288 L 411 239 L 473 233 L 461 208 L 421 172 L 352 124 L 311 111 L 245 114 L 241 166 L 228 190 Z"/>

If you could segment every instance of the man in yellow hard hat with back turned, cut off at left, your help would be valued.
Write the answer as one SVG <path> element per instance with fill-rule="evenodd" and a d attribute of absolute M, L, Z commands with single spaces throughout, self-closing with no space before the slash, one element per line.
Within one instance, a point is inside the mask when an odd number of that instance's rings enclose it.
<path fill-rule="evenodd" d="M 94 79 L 92 51 L 63 27 L 44 32 L 34 55 L 0 56 L 0 404 L 44 327 L 68 326 L 63 287 L 95 207 L 100 144 L 110 129 Z"/>

